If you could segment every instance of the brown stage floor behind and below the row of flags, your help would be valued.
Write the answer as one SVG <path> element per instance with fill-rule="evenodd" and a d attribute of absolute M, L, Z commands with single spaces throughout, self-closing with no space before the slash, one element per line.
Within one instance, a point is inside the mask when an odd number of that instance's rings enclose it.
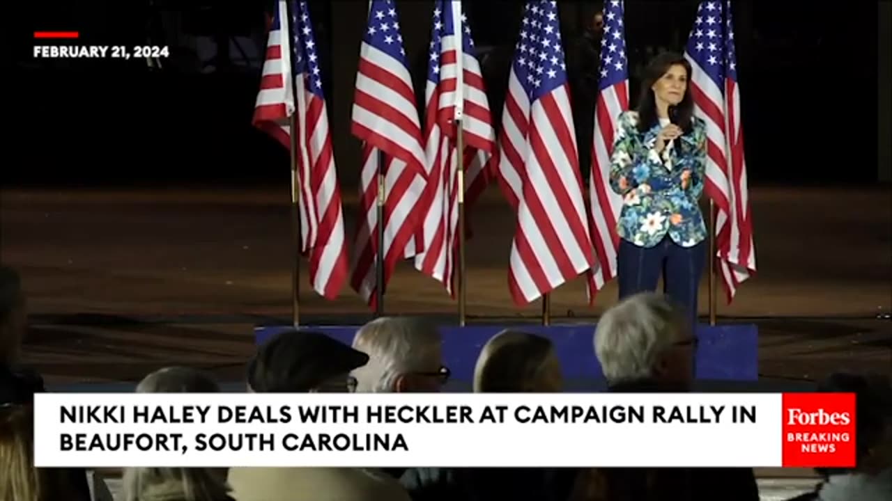
<path fill-rule="evenodd" d="M 720 321 L 759 325 L 766 376 L 892 373 L 888 189 L 754 188 L 751 197 L 759 274 L 730 306 L 720 298 Z M 290 316 L 288 200 L 287 187 L 3 191 L 0 255 L 21 269 L 34 321 L 26 359 L 51 382 L 132 381 L 171 364 L 239 377 L 252 325 Z M 346 201 L 349 235 L 355 211 L 355 200 Z M 535 321 L 538 303 L 518 309 L 508 295 L 514 218 L 497 191 L 470 221 L 468 315 Z M 612 284 L 590 308 L 583 280 L 567 283 L 552 296 L 555 322 L 598 316 L 615 296 Z M 333 302 L 305 288 L 301 300 L 307 321 L 369 317 L 349 288 Z M 703 315 L 706 304 L 704 280 Z M 445 321 L 456 309 L 409 263 L 394 275 L 385 306 Z"/>

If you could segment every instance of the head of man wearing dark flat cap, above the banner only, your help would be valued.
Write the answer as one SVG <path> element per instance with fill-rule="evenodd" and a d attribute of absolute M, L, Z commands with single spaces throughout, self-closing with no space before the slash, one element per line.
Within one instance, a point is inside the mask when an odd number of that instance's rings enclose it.
<path fill-rule="evenodd" d="M 336 393 L 356 390 L 350 372 L 368 355 L 324 333 L 290 329 L 265 342 L 248 364 L 248 390 L 257 393 Z"/>

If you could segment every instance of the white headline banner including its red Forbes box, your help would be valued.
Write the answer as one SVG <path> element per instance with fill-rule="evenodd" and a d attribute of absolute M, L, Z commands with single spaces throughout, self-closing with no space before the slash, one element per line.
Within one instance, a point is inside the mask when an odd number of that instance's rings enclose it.
<path fill-rule="evenodd" d="M 841 414 L 851 404 L 854 416 L 854 396 L 800 397 L 44 393 L 35 397 L 34 455 L 38 467 L 854 462 L 854 417 Z"/>

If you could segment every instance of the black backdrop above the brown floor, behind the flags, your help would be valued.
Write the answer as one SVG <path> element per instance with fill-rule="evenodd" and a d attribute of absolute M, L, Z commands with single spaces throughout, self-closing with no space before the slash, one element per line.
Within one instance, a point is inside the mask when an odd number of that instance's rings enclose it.
<path fill-rule="evenodd" d="M 265 44 L 268 2 L 21 3 L 12 15 L 16 62 L 5 72 L 4 185 L 286 184 L 286 152 L 251 127 L 259 66 L 201 62 L 189 36 L 251 37 Z M 409 57 L 426 49 L 431 2 L 397 2 Z M 627 0 L 632 67 L 648 46 L 681 49 L 696 1 Z M 468 2 L 476 45 L 510 53 L 521 3 Z M 310 2 L 323 54 L 335 160 L 356 185 L 349 136 L 351 86 L 368 4 Z M 565 46 L 594 2 L 559 2 Z M 735 2 L 735 31 L 751 185 L 863 184 L 878 178 L 878 23 L 874 2 Z M 173 21 L 171 21 L 173 20 Z M 171 27 L 174 27 L 173 29 Z M 34 30 L 78 30 L 79 44 L 169 45 L 161 70 L 145 61 L 34 60 Z M 417 59 L 415 57 L 414 59 Z M 215 70 L 209 71 L 210 67 Z M 203 71 L 207 71 L 202 73 Z M 414 70 L 418 78 L 423 72 Z M 506 75 L 507 77 L 507 75 Z M 340 80 L 339 80 L 340 79 Z M 504 82 L 487 82 L 490 90 Z M 632 86 L 632 94 L 637 94 Z M 500 101 L 491 101 L 495 114 Z M 498 109 L 497 109 L 498 108 Z M 579 119 L 591 119 L 590 116 Z"/>

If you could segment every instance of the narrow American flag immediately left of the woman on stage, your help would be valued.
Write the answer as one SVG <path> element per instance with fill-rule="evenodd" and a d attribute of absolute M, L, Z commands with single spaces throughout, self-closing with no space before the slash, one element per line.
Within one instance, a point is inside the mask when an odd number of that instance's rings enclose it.
<path fill-rule="evenodd" d="M 612 0 L 604 9 L 601 37 L 598 102 L 595 104 L 595 134 L 591 144 L 591 242 L 597 259 L 589 273 L 589 300 L 616 276 L 619 235 L 616 222 L 623 197 L 610 188 L 610 155 L 613 153 L 616 119 L 629 109 L 629 60 L 625 46 L 624 2 Z"/>

